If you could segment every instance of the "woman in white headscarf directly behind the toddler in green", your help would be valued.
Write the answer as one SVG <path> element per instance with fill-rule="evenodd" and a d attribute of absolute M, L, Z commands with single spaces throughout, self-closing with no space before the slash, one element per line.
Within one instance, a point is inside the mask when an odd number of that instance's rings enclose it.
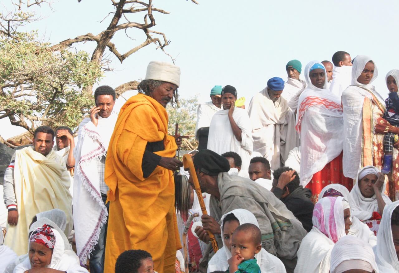
<path fill-rule="evenodd" d="M 226 271 L 229 268 L 227 260 L 231 258 L 231 235 L 235 229 L 242 224 L 254 224 L 259 227 L 255 216 L 248 210 L 237 209 L 228 212 L 221 218 L 223 223 L 220 227 L 223 237 L 223 247 L 219 249 L 208 263 L 207 272 Z M 257 264 L 262 272 L 285 273 L 285 268 L 279 258 L 273 256 L 262 248 L 261 252 L 255 255 Z"/>

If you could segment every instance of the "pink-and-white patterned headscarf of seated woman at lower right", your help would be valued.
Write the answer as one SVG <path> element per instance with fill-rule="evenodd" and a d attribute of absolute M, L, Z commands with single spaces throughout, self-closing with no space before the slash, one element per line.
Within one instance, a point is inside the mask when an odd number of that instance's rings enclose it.
<path fill-rule="evenodd" d="M 314 206 L 313 226 L 336 243 L 345 233 L 343 197 L 324 197 Z"/>

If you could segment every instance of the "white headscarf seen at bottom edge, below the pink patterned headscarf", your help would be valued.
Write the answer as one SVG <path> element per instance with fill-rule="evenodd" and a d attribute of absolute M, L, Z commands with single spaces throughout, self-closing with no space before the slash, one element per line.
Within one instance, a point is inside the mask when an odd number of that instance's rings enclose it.
<path fill-rule="evenodd" d="M 349 260 L 360 260 L 367 263 L 357 262 L 354 267 L 348 263 L 342 264 Z M 375 273 L 378 273 L 371 245 L 352 235 L 342 237 L 332 248 L 330 273 L 342 273 L 350 269 L 363 269 L 369 272 L 375 270 Z"/>

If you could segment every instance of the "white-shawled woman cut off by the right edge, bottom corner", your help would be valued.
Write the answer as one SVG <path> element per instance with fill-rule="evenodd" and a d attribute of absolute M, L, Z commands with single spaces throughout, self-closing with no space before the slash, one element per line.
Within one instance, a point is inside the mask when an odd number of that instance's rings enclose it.
<path fill-rule="evenodd" d="M 379 272 L 399 272 L 399 201 L 387 204 L 381 219 L 374 247 Z"/>

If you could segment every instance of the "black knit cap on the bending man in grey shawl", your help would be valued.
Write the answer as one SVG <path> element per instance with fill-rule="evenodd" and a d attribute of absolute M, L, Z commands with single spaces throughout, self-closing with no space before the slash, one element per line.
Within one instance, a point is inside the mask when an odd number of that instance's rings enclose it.
<path fill-rule="evenodd" d="M 219 172 L 230 170 L 230 164 L 226 158 L 208 149 L 200 150 L 194 156 L 194 167 L 208 175 L 218 175 Z"/>

